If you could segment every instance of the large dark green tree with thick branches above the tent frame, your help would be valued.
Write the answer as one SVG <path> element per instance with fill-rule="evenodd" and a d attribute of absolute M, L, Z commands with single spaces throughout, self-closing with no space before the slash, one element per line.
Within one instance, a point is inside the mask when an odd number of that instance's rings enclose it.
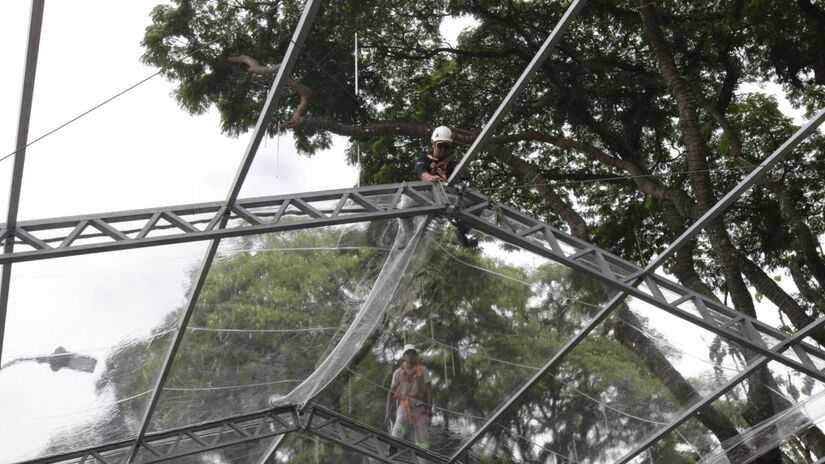
<path fill-rule="evenodd" d="M 144 61 L 176 83 L 185 110 L 217 108 L 221 130 L 240 134 L 255 123 L 302 6 L 174 0 L 153 12 Z M 362 183 L 411 179 L 433 127 L 450 126 L 459 143 L 454 156 L 461 154 L 566 6 L 327 2 L 275 119 L 307 154 L 337 134 L 351 141 L 352 159 L 359 143 Z M 451 44 L 442 32 L 456 18 L 473 24 Z M 810 115 L 825 106 L 823 84 L 825 10 L 817 2 L 594 0 L 483 147 L 470 186 L 646 263 L 796 129 L 777 97 L 760 86 L 780 86 Z M 810 137 L 666 270 L 749 316 L 770 308 L 788 331 L 821 317 L 823 147 L 825 137 Z M 656 368 L 661 350 L 622 327 L 611 336 L 677 401 L 693 401 L 685 379 Z M 825 343 L 825 331 L 814 338 Z M 787 406 L 771 392 L 784 388 L 793 396 L 795 387 L 780 383 L 768 370 L 749 380 L 747 424 Z M 699 421 L 719 440 L 742 428 L 714 408 Z M 795 450 L 762 459 L 825 456 L 821 433 L 795 443 Z"/>

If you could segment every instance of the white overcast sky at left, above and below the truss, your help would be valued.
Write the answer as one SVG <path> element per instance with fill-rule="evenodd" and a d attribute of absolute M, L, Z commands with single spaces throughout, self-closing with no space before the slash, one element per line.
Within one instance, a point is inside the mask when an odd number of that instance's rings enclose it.
<path fill-rule="evenodd" d="M 47 1 L 29 140 L 157 70 L 139 62 L 140 40 L 159 0 Z M 0 5 L 0 157 L 14 151 L 29 0 Z M 160 77 L 29 147 L 19 219 L 223 200 L 249 142 L 221 135 L 214 111 L 190 116 Z M 308 159 L 288 137 L 267 140 L 241 196 L 352 187 L 345 143 Z M 12 159 L 0 162 L 5 222 Z M 277 176 L 276 176 L 277 172 Z M 205 244 L 155 247 L 15 264 L 3 362 L 58 345 L 98 357 L 140 337 L 185 300 L 186 272 Z M 98 373 L 100 369 L 98 368 Z M 21 363 L 0 371 L 0 461 L 31 457 L 49 434 L 105 399 L 93 378 Z"/>

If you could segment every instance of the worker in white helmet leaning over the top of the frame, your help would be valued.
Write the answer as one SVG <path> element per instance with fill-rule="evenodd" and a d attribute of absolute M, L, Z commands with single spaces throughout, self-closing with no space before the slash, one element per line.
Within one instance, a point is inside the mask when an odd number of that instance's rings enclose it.
<path fill-rule="evenodd" d="M 415 177 L 425 182 L 447 182 L 458 163 L 450 159 L 450 150 L 453 148 L 453 131 L 447 126 L 436 127 L 432 137 L 432 154 L 423 154 L 415 162 Z M 462 177 L 467 180 L 469 176 Z M 467 238 L 469 227 L 462 223 L 456 224 L 453 242 L 465 248 L 478 245 L 478 242 Z"/>

